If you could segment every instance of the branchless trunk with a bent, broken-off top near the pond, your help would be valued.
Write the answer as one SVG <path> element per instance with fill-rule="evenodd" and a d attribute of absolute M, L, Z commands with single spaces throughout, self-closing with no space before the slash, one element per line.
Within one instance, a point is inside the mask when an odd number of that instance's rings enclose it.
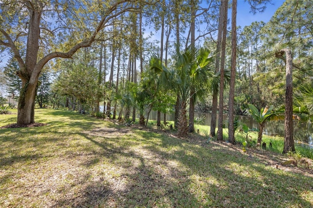
<path fill-rule="evenodd" d="M 292 122 L 292 55 L 290 49 L 281 51 L 286 53 L 285 141 L 283 153 L 288 153 L 288 151 L 295 151 Z"/>

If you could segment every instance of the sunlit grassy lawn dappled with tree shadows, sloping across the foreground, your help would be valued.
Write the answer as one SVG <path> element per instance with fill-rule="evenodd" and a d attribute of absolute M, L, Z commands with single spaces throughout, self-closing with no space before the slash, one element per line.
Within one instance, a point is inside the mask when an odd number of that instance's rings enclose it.
<path fill-rule="evenodd" d="M 0 207 L 313 207 L 312 169 L 278 153 L 63 110 L 35 121 L 47 125 L 0 129 Z"/>

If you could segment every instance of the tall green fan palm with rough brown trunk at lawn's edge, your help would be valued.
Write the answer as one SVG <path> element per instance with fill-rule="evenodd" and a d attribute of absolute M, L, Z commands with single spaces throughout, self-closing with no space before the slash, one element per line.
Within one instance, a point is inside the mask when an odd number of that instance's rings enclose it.
<path fill-rule="evenodd" d="M 191 50 L 187 48 L 183 53 L 177 49 L 174 54 L 176 60 L 173 69 L 165 67 L 157 56 L 150 59 L 150 68 L 159 74 L 159 82 L 175 90 L 178 95 L 180 112 L 178 118 L 178 135 L 184 136 L 188 132 L 188 120 L 186 106 L 191 96 L 197 96 L 207 85 L 209 78 L 209 66 L 213 62 L 212 57 L 208 57 L 210 51 L 200 48 Z M 190 94 L 191 88 L 195 89 Z"/>

